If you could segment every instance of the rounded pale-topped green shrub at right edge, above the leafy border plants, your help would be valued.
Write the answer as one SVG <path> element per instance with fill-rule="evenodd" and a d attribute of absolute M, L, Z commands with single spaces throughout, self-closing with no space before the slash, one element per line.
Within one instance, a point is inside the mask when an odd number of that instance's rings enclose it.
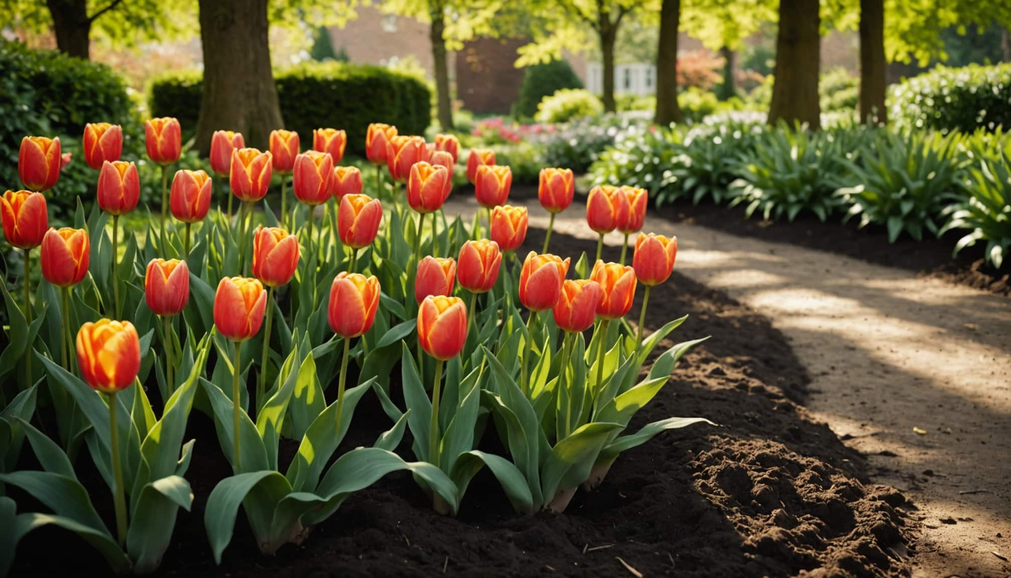
<path fill-rule="evenodd" d="M 889 116 L 902 128 L 971 133 L 1011 127 L 1011 64 L 939 66 L 893 85 Z"/>

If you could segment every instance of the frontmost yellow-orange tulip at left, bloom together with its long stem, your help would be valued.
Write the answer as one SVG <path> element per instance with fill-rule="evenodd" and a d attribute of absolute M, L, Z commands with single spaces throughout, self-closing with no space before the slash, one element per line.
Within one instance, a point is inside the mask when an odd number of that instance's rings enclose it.
<path fill-rule="evenodd" d="M 141 340 L 128 321 L 100 319 L 81 326 L 77 333 L 77 359 L 81 377 L 91 386 L 109 396 L 109 452 L 115 481 L 113 502 L 116 512 L 116 535 L 120 547 L 126 545 L 126 500 L 123 489 L 122 465 L 119 458 L 119 427 L 116 393 L 136 380 L 141 370 Z"/>

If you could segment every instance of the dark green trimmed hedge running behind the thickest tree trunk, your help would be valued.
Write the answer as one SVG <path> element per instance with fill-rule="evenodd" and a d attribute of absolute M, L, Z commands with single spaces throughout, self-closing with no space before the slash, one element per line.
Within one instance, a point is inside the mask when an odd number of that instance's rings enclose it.
<path fill-rule="evenodd" d="M 402 135 L 423 135 L 432 120 L 431 93 L 418 79 L 381 67 L 339 62 L 304 63 L 274 74 L 281 116 L 305 149 L 312 130 L 348 132 L 349 152 L 365 154 L 370 122 L 395 125 Z M 153 116 L 175 116 L 184 132 L 196 128 L 203 89 L 198 71 L 173 72 L 152 82 Z"/>

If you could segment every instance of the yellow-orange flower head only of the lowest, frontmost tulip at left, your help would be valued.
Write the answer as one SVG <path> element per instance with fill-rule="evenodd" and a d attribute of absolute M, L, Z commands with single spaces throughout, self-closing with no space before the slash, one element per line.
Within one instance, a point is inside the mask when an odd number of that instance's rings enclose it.
<path fill-rule="evenodd" d="M 141 339 L 128 321 L 99 319 L 77 332 L 77 364 L 92 389 L 104 394 L 125 390 L 141 370 Z"/>

